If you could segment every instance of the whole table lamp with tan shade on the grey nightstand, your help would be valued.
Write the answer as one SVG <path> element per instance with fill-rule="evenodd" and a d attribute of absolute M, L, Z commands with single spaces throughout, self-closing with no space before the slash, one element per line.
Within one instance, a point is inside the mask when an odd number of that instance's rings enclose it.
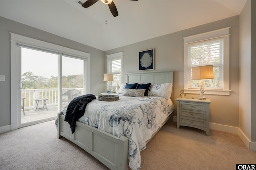
<path fill-rule="evenodd" d="M 213 79 L 213 66 L 197 66 L 192 67 L 192 80 L 200 80 L 199 83 L 199 96 L 198 99 L 205 100 L 206 97 L 204 96 L 204 79 Z"/>

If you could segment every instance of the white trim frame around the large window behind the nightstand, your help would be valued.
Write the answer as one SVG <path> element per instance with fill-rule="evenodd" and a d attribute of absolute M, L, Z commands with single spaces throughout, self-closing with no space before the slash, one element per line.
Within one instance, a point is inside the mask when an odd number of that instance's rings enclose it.
<path fill-rule="evenodd" d="M 197 35 L 192 35 L 184 37 L 184 93 L 198 94 L 199 88 L 189 88 L 189 75 L 188 75 L 188 44 L 196 43 L 198 41 L 205 41 L 208 39 L 214 39 L 218 37 L 223 37 L 223 88 L 220 89 L 207 89 L 205 88 L 204 94 L 216 94 L 216 95 L 230 95 L 229 90 L 229 37 L 230 37 L 230 27 L 217 29 L 214 31 L 209 31 L 206 33 L 201 33 Z"/>

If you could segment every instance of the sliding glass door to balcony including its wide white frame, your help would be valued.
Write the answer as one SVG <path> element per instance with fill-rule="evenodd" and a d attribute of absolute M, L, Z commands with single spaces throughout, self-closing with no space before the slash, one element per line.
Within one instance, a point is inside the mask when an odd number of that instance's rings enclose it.
<path fill-rule="evenodd" d="M 10 37 L 11 130 L 56 119 L 68 104 L 63 100 L 90 93 L 89 53 L 15 33 Z M 79 93 L 68 98 L 62 95 L 67 89 Z"/>

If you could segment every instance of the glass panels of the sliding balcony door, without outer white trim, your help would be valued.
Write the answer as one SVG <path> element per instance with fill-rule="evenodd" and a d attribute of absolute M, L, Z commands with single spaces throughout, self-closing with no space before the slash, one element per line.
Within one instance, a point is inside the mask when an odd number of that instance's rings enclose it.
<path fill-rule="evenodd" d="M 56 119 L 58 108 L 86 93 L 86 60 L 36 48 L 20 49 L 20 127 Z"/>

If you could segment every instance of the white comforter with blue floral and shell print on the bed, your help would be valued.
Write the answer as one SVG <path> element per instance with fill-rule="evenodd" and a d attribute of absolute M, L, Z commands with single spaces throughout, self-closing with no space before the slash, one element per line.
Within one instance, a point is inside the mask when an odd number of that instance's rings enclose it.
<path fill-rule="evenodd" d="M 140 169 L 140 151 L 146 149 L 146 141 L 173 110 L 172 101 L 162 97 L 120 96 L 115 102 L 92 100 L 79 121 L 127 137 L 129 166 L 135 170 Z"/>

